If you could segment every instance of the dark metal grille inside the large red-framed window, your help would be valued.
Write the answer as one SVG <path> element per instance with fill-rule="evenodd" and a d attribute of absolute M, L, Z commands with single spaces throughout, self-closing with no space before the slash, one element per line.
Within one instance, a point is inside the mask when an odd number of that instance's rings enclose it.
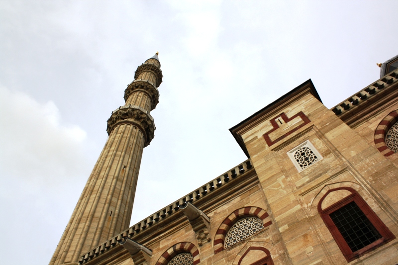
<path fill-rule="evenodd" d="M 352 252 L 356 252 L 382 238 L 354 201 L 330 213 L 330 218 Z"/>

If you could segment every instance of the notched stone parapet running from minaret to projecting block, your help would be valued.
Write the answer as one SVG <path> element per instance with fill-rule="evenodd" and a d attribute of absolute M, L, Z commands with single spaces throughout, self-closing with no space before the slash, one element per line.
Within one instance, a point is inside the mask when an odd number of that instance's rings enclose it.
<path fill-rule="evenodd" d="M 174 216 L 177 212 L 179 212 L 180 207 L 185 206 L 188 202 L 196 204 L 196 202 L 202 200 L 203 198 L 207 197 L 208 194 L 213 193 L 221 187 L 225 187 L 229 183 L 239 181 L 237 179 L 240 179 L 240 181 L 242 181 L 244 179 L 242 177 L 248 176 L 247 174 L 249 174 L 250 172 L 254 172 L 254 168 L 250 162 L 250 159 L 248 159 L 245 162 L 234 167 L 233 169 L 222 174 L 221 176 L 218 176 L 213 180 L 207 182 L 199 189 L 188 193 L 186 196 L 162 208 L 160 211 L 151 214 L 147 218 L 144 218 L 142 221 L 131 226 L 128 230 L 125 230 L 121 234 L 114 236 L 108 241 L 102 243 L 97 248 L 82 255 L 79 263 L 85 264 L 93 260 L 94 258 L 100 256 L 102 253 L 105 253 L 117 247 L 119 245 L 117 243 L 122 242 L 126 238 L 134 239 L 136 236 L 139 236 L 141 232 L 145 231 L 149 227 L 154 226 L 160 221 L 168 219 L 171 216 Z"/>

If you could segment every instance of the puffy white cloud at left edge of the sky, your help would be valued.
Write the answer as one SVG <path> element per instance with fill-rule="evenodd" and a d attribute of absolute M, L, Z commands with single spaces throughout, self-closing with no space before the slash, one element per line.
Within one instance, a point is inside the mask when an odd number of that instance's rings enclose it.
<path fill-rule="evenodd" d="M 62 124 L 52 101 L 40 104 L 25 93 L 1 87 L 0 112 L 2 171 L 52 183 L 55 174 L 69 176 L 84 167 L 86 132 Z"/>

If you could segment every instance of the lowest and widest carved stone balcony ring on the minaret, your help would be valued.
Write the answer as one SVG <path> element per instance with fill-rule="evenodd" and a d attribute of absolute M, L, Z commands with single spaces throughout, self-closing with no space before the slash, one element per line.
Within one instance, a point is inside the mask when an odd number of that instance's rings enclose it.
<path fill-rule="evenodd" d="M 134 124 L 142 130 L 146 138 L 144 147 L 152 141 L 156 127 L 152 116 L 144 108 L 127 105 L 114 110 L 107 121 L 106 132 L 110 135 L 117 125 L 123 123 Z"/>

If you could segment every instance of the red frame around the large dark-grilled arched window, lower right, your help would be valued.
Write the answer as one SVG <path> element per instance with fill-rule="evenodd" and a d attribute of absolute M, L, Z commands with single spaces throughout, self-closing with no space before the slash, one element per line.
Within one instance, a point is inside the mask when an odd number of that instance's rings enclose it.
<path fill-rule="evenodd" d="M 326 196 L 332 192 L 336 191 L 339 189 L 346 189 L 351 192 L 351 195 L 346 196 L 345 198 L 339 200 L 338 202 L 330 205 L 326 209 L 322 209 L 321 205 L 326 198 Z M 358 205 L 358 207 L 361 209 L 361 211 L 365 214 L 365 216 L 369 219 L 369 221 L 372 223 L 372 225 L 376 228 L 376 230 L 380 233 L 382 238 L 376 240 L 372 244 L 369 244 L 368 246 L 356 251 L 352 252 L 350 247 L 348 246 L 347 242 L 341 235 L 340 231 L 337 229 L 336 225 L 330 218 L 329 214 L 340 209 L 341 207 L 347 205 L 348 203 L 355 201 L 355 203 Z M 330 233 L 332 234 L 334 240 L 336 241 L 337 245 L 339 246 L 341 252 L 343 253 L 345 259 L 347 262 L 351 262 L 355 259 L 357 259 L 359 256 L 370 252 L 387 242 L 395 239 L 394 234 L 388 229 L 388 227 L 383 223 L 383 221 L 377 216 L 377 214 L 369 207 L 369 205 L 366 203 L 366 201 L 361 197 L 361 195 L 358 194 L 358 192 L 350 187 L 340 187 L 340 188 L 334 188 L 330 189 L 326 192 L 325 195 L 321 198 L 321 200 L 318 203 L 318 212 L 320 216 L 322 217 L 323 222 L 325 223 L 326 227 L 329 229 Z"/>

